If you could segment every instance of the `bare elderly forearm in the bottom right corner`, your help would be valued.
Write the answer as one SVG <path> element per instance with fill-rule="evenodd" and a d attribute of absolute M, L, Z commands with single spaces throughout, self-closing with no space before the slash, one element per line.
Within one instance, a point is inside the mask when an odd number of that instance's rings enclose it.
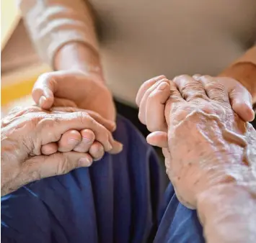
<path fill-rule="evenodd" d="M 198 216 L 208 243 L 255 242 L 256 190 L 253 183 L 219 185 L 198 197 Z"/>

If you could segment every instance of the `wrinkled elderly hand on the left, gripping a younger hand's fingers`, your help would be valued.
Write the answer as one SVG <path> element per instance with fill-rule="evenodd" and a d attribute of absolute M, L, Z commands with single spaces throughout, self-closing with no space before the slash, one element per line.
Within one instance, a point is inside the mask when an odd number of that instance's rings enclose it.
<path fill-rule="evenodd" d="M 120 152 L 120 143 L 102 126 L 105 120 L 101 116 L 93 117 L 81 109 L 73 108 L 72 111 L 46 112 L 32 106 L 13 111 L 1 121 L 1 196 L 34 180 L 91 165 L 93 147 L 90 154 L 57 152 L 43 155 L 43 145 L 58 142 L 61 135 L 71 129 L 87 129 L 105 151 Z"/>

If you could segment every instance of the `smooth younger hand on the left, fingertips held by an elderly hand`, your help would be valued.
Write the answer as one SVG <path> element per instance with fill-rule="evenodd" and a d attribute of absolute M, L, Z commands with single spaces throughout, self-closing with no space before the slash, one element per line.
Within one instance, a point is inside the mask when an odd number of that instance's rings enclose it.
<path fill-rule="evenodd" d="M 96 112 L 110 121 L 106 127 L 110 132 L 115 130 L 115 105 L 112 101 L 112 94 L 100 75 L 89 75 L 73 70 L 44 73 L 35 83 L 32 98 L 37 106 L 45 110 L 50 110 L 55 106 L 64 106 Z M 58 151 L 86 152 L 87 146 L 84 145 L 86 141 L 87 134 L 74 129 L 67 131 L 61 137 Z M 56 148 L 56 144 L 44 145 L 43 153 L 47 155 L 48 151 L 57 152 Z M 94 150 L 100 153 L 102 146 L 94 145 Z"/>

